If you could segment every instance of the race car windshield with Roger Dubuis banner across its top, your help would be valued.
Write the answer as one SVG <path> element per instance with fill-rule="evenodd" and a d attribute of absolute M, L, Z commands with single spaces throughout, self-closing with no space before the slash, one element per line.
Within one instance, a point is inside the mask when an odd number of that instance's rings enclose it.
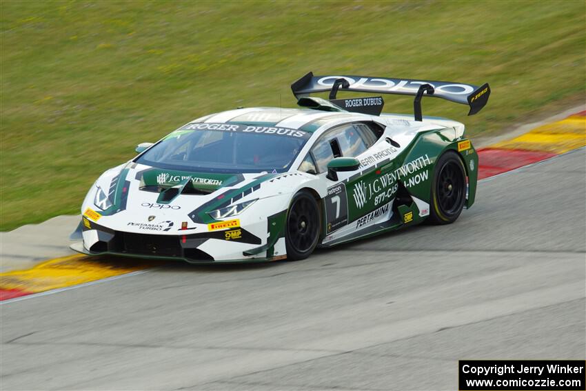
<path fill-rule="evenodd" d="M 310 133 L 230 123 L 188 123 L 142 154 L 137 163 L 197 172 L 284 172 Z"/>

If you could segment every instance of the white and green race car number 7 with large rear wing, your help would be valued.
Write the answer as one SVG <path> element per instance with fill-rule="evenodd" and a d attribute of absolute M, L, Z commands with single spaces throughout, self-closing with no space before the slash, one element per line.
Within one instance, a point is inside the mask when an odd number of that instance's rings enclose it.
<path fill-rule="evenodd" d="M 462 123 L 423 117 L 421 99 L 481 110 L 490 94 L 446 81 L 314 76 L 300 108 L 237 108 L 194 119 L 104 172 L 81 206 L 84 254 L 192 263 L 299 260 L 423 221 L 454 222 L 476 194 L 478 155 Z M 414 96 L 414 114 L 381 114 Z M 330 99 L 311 97 L 330 91 Z"/>

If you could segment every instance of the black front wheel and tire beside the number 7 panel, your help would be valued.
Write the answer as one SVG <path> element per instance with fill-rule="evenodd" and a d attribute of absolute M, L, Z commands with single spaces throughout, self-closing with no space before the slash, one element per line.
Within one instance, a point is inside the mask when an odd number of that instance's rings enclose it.
<path fill-rule="evenodd" d="M 316 199 L 307 191 L 294 195 L 285 221 L 287 259 L 299 261 L 312 254 L 319 241 L 320 210 Z"/>

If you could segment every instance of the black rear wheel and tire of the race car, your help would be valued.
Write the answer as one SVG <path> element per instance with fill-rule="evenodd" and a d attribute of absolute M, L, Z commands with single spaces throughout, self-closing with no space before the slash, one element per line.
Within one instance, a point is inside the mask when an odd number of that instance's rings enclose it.
<path fill-rule="evenodd" d="M 458 219 L 466 201 L 466 170 L 460 156 L 447 151 L 439 157 L 432 181 L 429 223 L 450 224 Z"/>

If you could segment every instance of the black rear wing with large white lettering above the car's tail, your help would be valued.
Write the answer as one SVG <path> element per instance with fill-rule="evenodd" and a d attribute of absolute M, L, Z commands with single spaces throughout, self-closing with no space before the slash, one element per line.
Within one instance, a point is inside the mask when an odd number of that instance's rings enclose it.
<path fill-rule="evenodd" d="M 378 94 L 412 95 L 415 97 L 413 106 L 415 120 L 421 121 L 421 98 L 428 97 L 447 99 L 455 103 L 468 105 L 468 115 L 476 114 L 488 102 L 490 87 L 488 83 L 482 86 L 454 83 L 452 81 L 424 81 L 412 79 L 390 79 L 388 77 L 367 76 L 314 76 L 307 73 L 291 85 L 291 90 L 297 99 L 307 97 L 315 92 L 330 91 L 330 100 L 336 99 L 338 90 L 374 92 Z"/>

